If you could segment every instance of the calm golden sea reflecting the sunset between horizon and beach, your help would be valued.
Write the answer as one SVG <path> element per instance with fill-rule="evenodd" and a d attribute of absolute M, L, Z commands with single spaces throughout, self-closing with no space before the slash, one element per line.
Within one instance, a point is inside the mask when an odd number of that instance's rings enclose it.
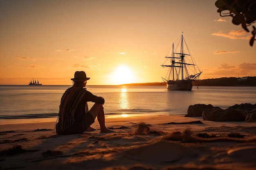
<path fill-rule="evenodd" d="M 57 117 L 60 99 L 70 86 L 0 85 L 0 124 L 8 120 Z M 166 86 L 87 86 L 105 99 L 106 117 L 185 115 L 190 105 L 212 104 L 226 109 L 256 103 L 256 87 L 196 86 L 192 91 L 167 91 Z M 89 102 L 89 107 L 92 106 Z"/>

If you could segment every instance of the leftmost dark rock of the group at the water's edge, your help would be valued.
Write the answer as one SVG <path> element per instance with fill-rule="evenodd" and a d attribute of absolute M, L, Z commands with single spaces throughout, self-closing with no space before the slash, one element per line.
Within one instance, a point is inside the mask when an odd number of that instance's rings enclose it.
<path fill-rule="evenodd" d="M 204 110 L 212 109 L 212 108 L 219 108 L 219 107 L 214 107 L 211 104 L 190 105 L 185 117 L 201 117 Z"/>

